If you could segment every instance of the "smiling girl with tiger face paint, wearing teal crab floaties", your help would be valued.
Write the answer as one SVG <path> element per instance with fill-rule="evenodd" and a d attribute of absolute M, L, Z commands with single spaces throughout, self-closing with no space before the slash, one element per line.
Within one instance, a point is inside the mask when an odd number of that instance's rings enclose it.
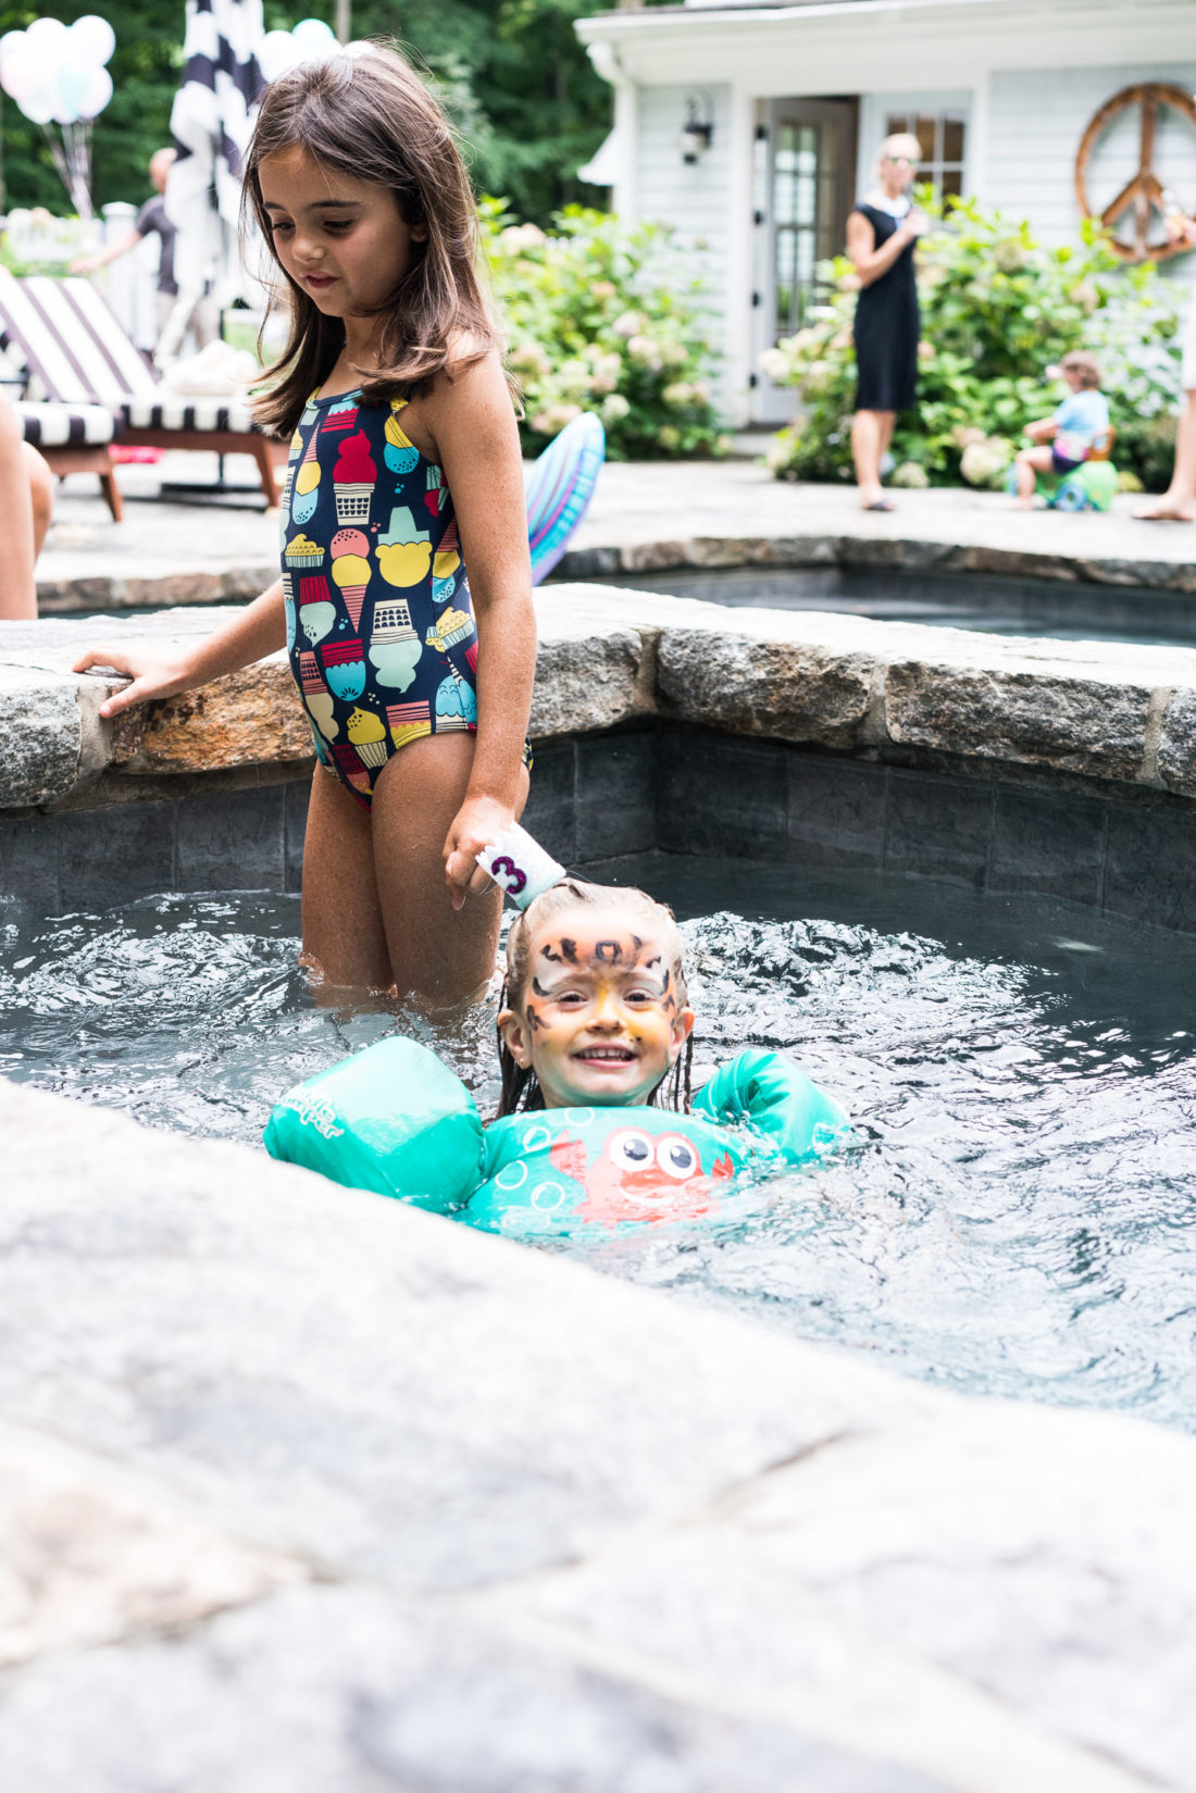
<path fill-rule="evenodd" d="M 819 1156 L 846 1117 L 776 1052 L 690 1096 L 692 1027 L 672 913 L 563 879 L 511 923 L 490 1126 L 427 1047 L 391 1038 L 283 1097 L 265 1144 L 486 1232 L 705 1223 L 742 1173 Z"/>

